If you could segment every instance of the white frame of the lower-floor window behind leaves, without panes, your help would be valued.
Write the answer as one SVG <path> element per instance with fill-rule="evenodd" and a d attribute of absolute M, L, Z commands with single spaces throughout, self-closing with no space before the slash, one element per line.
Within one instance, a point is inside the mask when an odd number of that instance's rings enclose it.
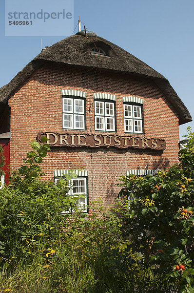
<path fill-rule="evenodd" d="M 62 179 L 65 177 L 61 177 Z M 60 178 L 56 178 L 55 177 L 55 182 L 57 182 Z M 73 183 L 78 181 L 80 182 L 81 180 L 84 181 L 84 191 L 85 192 L 74 192 L 74 186 Z M 78 176 L 77 178 L 72 178 L 71 180 L 69 180 L 69 191 L 68 191 L 68 195 L 69 196 L 80 196 L 83 195 L 85 196 L 84 198 L 79 198 L 78 199 L 78 209 L 80 209 L 82 212 L 87 212 L 87 205 L 88 205 L 88 189 L 87 189 L 87 181 L 88 181 L 88 177 L 80 177 Z M 72 213 L 74 212 L 73 209 L 69 209 L 69 210 L 65 210 L 62 211 L 61 214 L 67 214 L 67 213 Z"/>

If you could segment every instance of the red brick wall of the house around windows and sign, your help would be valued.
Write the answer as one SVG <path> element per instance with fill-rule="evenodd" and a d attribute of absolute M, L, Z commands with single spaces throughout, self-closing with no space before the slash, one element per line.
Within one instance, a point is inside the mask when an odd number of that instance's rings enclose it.
<path fill-rule="evenodd" d="M 120 74 L 105 74 L 100 70 L 96 73 L 95 70 L 47 65 L 39 68 L 9 100 L 12 133 L 11 168 L 20 166 L 22 158 L 30 149 L 31 140 L 35 140 L 39 131 L 65 132 L 62 129 L 61 89 L 87 92 L 84 132 L 88 133 L 95 133 L 93 93 L 104 92 L 116 95 L 118 135 L 125 135 L 122 96 L 133 95 L 143 98 L 144 135 L 147 138 L 164 138 L 167 147 L 163 152 L 133 148 L 55 147 L 42 164 L 44 171 L 47 172 L 46 179 L 53 179 L 53 170 L 83 167 L 89 171 L 89 199 L 100 196 L 104 203 L 109 204 L 118 192 L 115 186 L 116 178 L 125 174 L 126 170 L 166 168 L 177 162 L 179 140 L 177 113 L 153 81 Z M 144 135 L 138 134 L 142 137 Z"/>

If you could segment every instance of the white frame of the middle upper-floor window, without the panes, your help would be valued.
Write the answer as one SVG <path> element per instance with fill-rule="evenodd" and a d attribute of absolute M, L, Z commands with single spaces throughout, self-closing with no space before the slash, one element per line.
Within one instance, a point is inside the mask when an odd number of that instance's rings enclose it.
<path fill-rule="evenodd" d="M 101 104 L 102 107 L 100 107 L 102 109 L 102 113 L 98 113 L 97 109 L 99 107 L 97 107 L 97 104 Z M 112 106 L 111 108 L 107 108 L 107 106 Z M 110 110 L 109 112 L 112 113 L 108 113 L 108 110 Z M 108 129 L 108 119 L 112 120 L 111 125 L 113 125 L 113 129 Z M 97 128 L 97 125 L 99 124 L 98 120 L 101 120 L 100 124 L 102 124 L 101 127 Z M 108 132 L 115 132 L 115 103 L 111 102 L 111 101 L 98 101 L 95 100 L 95 130 L 99 130 L 99 131 L 108 131 Z"/>

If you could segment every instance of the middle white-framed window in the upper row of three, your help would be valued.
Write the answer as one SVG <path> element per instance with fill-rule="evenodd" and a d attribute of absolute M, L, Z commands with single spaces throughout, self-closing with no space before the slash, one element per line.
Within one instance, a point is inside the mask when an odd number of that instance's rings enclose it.
<path fill-rule="evenodd" d="M 95 130 L 115 131 L 115 103 L 95 101 Z"/>

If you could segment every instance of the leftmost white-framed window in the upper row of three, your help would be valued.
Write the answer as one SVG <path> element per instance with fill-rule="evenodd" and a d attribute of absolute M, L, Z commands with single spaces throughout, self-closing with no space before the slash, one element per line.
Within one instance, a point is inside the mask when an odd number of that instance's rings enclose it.
<path fill-rule="evenodd" d="M 62 128 L 85 129 L 85 101 L 62 97 Z"/>

